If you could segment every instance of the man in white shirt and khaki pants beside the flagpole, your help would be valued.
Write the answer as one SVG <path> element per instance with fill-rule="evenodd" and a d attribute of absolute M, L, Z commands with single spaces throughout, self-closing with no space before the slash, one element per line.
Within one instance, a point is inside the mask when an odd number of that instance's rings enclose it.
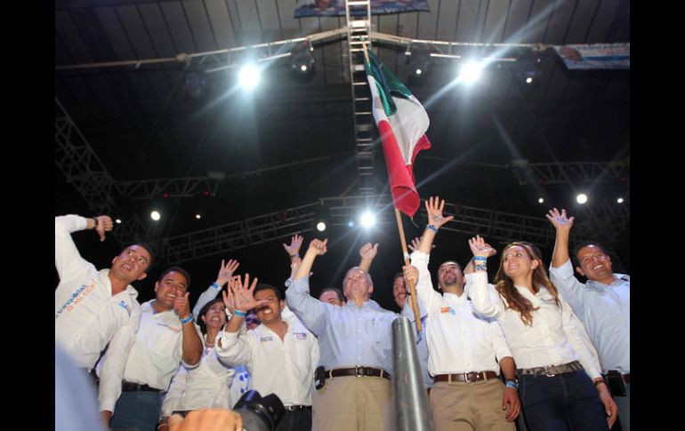
<path fill-rule="evenodd" d="M 455 261 L 439 267 L 443 295 L 432 288 L 428 261 L 433 239 L 439 227 L 452 219 L 442 216 L 444 205 L 438 198 L 426 201 L 429 224 L 412 253 L 413 267 L 405 268 L 407 279 L 418 278 L 416 294 L 428 314 L 425 331 L 428 370 L 435 381 L 430 401 L 436 429 L 512 431 L 520 400 L 512 353 L 502 330 L 495 320 L 474 312 Z M 500 367 L 506 387 L 497 378 Z"/>

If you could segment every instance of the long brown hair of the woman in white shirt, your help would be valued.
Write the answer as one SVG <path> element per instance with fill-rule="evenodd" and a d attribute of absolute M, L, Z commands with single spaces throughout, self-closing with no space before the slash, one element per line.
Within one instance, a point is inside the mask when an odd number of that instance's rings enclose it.
<path fill-rule="evenodd" d="M 528 258 L 531 260 L 537 260 L 537 267 L 533 269 L 533 290 L 537 292 L 540 290 L 540 285 L 543 285 L 545 288 L 547 288 L 547 291 L 552 294 L 557 307 L 561 307 L 559 302 L 559 293 L 557 292 L 557 288 L 554 287 L 554 284 L 552 284 L 550 277 L 547 276 L 547 271 L 544 269 L 543 265 L 543 259 L 540 258 L 541 253 L 535 245 L 520 241 L 509 243 L 506 247 L 504 247 L 504 251 L 502 251 L 502 259 L 500 260 L 499 269 L 497 270 L 497 275 L 495 277 L 495 288 L 502 298 L 504 298 L 506 307 L 518 311 L 523 323 L 527 324 L 528 326 L 532 326 L 533 311 L 538 308 L 533 307 L 533 304 L 531 304 L 528 299 L 525 299 L 523 295 L 521 295 L 520 292 L 514 287 L 513 280 L 508 275 L 504 274 L 504 252 L 517 245 L 528 252 Z"/>

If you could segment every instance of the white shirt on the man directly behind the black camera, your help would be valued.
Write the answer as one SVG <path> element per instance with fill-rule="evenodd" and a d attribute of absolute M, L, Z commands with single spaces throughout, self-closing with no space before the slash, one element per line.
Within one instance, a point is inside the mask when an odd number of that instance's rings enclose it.
<path fill-rule="evenodd" d="M 222 332 L 222 346 L 214 348 L 227 365 L 246 363 L 252 387 L 260 394 L 276 394 L 286 406 L 311 405 L 318 340 L 296 316 L 284 321 L 284 339 L 262 323 L 244 335 Z"/>

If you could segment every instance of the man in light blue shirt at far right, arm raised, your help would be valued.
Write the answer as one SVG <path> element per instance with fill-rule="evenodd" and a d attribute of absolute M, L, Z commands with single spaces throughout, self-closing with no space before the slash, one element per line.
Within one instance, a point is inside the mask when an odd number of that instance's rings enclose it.
<path fill-rule="evenodd" d="M 546 217 L 556 229 L 550 279 L 583 321 L 600 355 L 601 371 L 616 372 L 617 386 L 625 386 L 625 394 L 618 394 L 614 387 L 612 395 L 621 428 L 630 431 L 630 277 L 614 273 L 607 252 L 600 244 L 588 242 L 578 244 L 574 253 L 576 272 L 587 278 L 587 283 L 580 283 L 573 275 L 568 254 L 568 236 L 575 218 L 556 208 Z"/>

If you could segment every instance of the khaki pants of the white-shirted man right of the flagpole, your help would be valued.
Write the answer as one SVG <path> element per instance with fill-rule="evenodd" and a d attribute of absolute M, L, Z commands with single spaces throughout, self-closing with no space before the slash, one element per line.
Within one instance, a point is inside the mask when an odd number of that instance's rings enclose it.
<path fill-rule="evenodd" d="M 435 383 L 430 401 L 436 431 L 514 431 L 504 419 L 503 392 L 499 379 Z"/>

